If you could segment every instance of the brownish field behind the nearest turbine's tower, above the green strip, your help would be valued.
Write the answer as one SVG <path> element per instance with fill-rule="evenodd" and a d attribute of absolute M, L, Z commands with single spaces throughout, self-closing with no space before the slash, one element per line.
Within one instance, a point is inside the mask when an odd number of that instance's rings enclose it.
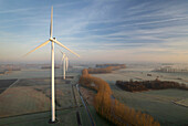
<path fill-rule="evenodd" d="M 66 82 L 55 80 L 56 109 L 75 107 L 72 85 Z M 50 111 L 50 78 L 20 80 L 0 94 L 0 117 Z"/>

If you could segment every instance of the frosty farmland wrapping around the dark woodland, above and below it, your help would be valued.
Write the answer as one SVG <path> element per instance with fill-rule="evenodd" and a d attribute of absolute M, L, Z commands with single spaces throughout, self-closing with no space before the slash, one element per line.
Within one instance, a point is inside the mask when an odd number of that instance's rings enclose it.
<path fill-rule="evenodd" d="M 129 81 L 143 81 L 143 80 L 155 80 L 156 76 L 160 76 L 159 80 L 174 81 L 176 77 L 169 74 L 152 73 L 153 76 L 147 76 L 150 73 L 148 70 L 143 71 L 136 69 L 125 69 L 119 71 L 114 71 L 109 74 L 92 74 L 92 76 L 101 77 L 108 82 L 114 97 L 121 103 L 126 104 L 129 107 L 142 111 L 144 113 L 150 114 L 155 119 L 157 119 L 163 126 L 166 125 L 188 125 L 188 107 L 187 98 L 188 92 L 181 90 L 160 90 L 160 91 L 149 91 L 149 92 L 137 92 L 130 93 L 122 91 L 115 85 L 116 80 Z M 178 80 L 176 80 L 178 81 Z"/>

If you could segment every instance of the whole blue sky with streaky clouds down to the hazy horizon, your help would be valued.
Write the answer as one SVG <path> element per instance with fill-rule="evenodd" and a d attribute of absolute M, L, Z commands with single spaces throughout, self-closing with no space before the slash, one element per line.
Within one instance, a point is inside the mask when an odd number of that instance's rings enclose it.
<path fill-rule="evenodd" d="M 0 63 L 50 62 L 53 36 L 72 62 L 188 63 L 187 0 L 0 0 Z"/>

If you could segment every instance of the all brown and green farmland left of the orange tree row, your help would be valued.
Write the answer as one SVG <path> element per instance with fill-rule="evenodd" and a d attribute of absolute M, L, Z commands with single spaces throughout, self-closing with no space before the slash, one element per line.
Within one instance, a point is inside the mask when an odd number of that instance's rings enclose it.
<path fill-rule="evenodd" d="M 73 76 L 73 78 L 67 77 L 65 81 L 62 77 L 55 77 L 56 117 L 59 119 L 55 125 L 77 126 L 76 112 L 80 112 L 83 126 L 91 124 L 74 86 L 77 83 L 79 74 L 77 72 L 69 73 L 67 76 Z M 10 81 L 1 81 L 3 92 L 0 94 L 0 125 L 51 125 L 48 123 L 51 118 L 51 80 L 36 76 L 34 78 L 19 80 L 9 76 Z M 94 107 L 91 107 L 91 112 L 97 122 L 96 125 L 109 125 L 96 114 Z"/>

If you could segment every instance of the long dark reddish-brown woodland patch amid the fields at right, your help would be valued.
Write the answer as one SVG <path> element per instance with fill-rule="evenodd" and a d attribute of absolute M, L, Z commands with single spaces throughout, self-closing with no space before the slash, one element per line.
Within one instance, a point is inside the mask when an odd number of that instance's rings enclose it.
<path fill-rule="evenodd" d="M 165 90 L 165 88 L 179 88 L 179 90 L 187 90 L 188 87 L 186 84 L 179 84 L 177 82 L 170 82 L 170 81 L 116 81 L 116 85 L 125 91 L 129 92 L 139 92 L 139 91 L 147 91 L 147 90 Z"/>

